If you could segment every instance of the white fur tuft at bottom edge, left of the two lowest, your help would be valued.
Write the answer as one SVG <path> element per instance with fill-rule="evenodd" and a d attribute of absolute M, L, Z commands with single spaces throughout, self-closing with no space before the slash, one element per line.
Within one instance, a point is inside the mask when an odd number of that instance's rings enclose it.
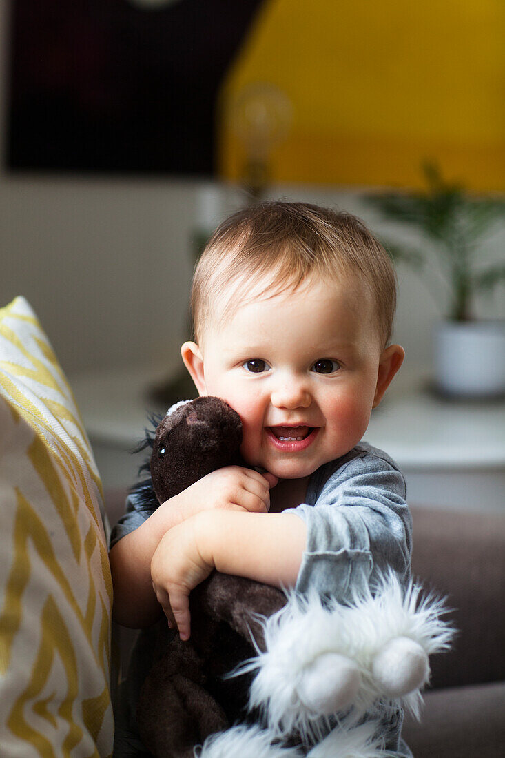
<path fill-rule="evenodd" d="M 195 748 L 195 758 L 302 758 L 294 747 L 272 745 L 273 738 L 256 725 L 234 726 L 208 737 Z"/>

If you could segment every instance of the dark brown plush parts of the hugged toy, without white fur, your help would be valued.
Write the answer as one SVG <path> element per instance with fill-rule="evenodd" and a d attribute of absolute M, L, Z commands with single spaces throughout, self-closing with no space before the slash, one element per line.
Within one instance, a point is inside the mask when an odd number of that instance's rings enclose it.
<path fill-rule="evenodd" d="M 221 399 L 177 403 L 148 440 L 151 478 L 137 495 L 154 508 L 216 468 L 245 465 L 241 440 L 240 417 Z M 189 641 L 157 625 L 155 663 L 137 706 L 140 736 L 153 755 L 193 758 L 208 735 L 244 720 L 250 679 L 224 675 L 256 654 L 251 634 L 263 649 L 255 615 L 268 617 L 285 602 L 274 587 L 212 572 L 191 594 Z"/>

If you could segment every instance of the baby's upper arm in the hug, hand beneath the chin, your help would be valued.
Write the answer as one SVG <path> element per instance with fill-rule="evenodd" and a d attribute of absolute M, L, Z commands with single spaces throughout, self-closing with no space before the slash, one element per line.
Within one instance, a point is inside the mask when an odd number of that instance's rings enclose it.
<path fill-rule="evenodd" d="M 265 513 L 270 506 L 270 487 L 276 483 L 272 475 L 227 466 L 162 503 L 143 525 L 110 550 L 114 621 L 141 628 L 158 619 L 160 606 L 152 591 L 151 560 L 167 531 L 206 510 Z"/>

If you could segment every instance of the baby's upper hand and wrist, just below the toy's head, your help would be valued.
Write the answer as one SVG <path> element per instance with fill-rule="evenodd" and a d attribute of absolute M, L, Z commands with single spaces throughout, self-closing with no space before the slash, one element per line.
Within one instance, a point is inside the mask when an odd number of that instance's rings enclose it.
<path fill-rule="evenodd" d="M 177 495 L 183 518 L 202 510 L 241 510 L 266 513 L 270 508 L 270 487 L 278 479 L 251 468 L 225 466 L 202 477 Z"/>

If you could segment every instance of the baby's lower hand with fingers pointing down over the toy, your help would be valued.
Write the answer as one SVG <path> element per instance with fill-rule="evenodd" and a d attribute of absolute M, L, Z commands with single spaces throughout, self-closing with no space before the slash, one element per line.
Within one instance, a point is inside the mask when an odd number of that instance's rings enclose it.
<path fill-rule="evenodd" d="M 169 529 L 151 560 L 152 589 L 181 640 L 190 638 L 190 592 L 214 568 L 197 547 L 195 525 L 196 519 L 188 518 Z"/>

